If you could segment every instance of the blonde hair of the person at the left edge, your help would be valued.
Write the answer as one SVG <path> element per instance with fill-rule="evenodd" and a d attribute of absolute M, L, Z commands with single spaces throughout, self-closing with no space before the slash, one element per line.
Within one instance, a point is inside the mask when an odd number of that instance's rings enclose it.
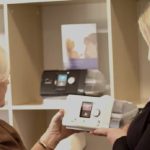
<path fill-rule="evenodd" d="M 0 46 L 0 82 L 9 78 L 9 59 L 6 51 Z"/>

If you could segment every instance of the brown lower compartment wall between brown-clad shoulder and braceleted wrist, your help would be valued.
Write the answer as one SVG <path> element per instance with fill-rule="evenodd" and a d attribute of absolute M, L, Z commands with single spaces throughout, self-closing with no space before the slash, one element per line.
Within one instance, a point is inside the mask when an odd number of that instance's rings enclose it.
<path fill-rule="evenodd" d="M 54 113 L 55 111 L 43 110 L 13 111 L 13 126 L 20 134 L 27 149 L 31 149 L 45 132 Z"/>

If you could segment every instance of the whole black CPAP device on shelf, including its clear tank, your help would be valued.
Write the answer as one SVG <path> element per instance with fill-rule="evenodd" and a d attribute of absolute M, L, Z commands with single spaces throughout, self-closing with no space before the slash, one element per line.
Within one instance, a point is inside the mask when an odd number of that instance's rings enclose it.
<path fill-rule="evenodd" d="M 98 70 L 45 70 L 42 74 L 41 96 L 100 96 L 104 91 L 105 80 Z"/>

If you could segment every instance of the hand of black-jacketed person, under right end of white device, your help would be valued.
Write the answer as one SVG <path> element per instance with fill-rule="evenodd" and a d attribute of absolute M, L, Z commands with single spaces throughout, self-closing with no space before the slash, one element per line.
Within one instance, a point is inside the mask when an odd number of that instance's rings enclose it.
<path fill-rule="evenodd" d="M 128 127 L 129 125 L 126 125 L 123 128 L 99 128 L 90 131 L 90 133 L 99 136 L 106 136 L 108 141 L 113 145 L 118 138 L 127 135 Z"/>

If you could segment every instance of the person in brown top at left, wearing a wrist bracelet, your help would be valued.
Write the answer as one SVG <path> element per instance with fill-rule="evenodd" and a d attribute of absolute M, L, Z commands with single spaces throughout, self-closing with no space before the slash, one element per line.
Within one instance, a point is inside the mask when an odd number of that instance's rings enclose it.
<path fill-rule="evenodd" d="M 8 55 L 0 47 L 0 106 L 5 104 L 5 93 L 9 83 Z M 53 150 L 62 139 L 75 133 L 62 126 L 64 111 L 58 111 L 40 140 L 35 143 L 32 150 Z M 26 150 L 16 130 L 3 120 L 0 120 L 0 150 Z"/>

